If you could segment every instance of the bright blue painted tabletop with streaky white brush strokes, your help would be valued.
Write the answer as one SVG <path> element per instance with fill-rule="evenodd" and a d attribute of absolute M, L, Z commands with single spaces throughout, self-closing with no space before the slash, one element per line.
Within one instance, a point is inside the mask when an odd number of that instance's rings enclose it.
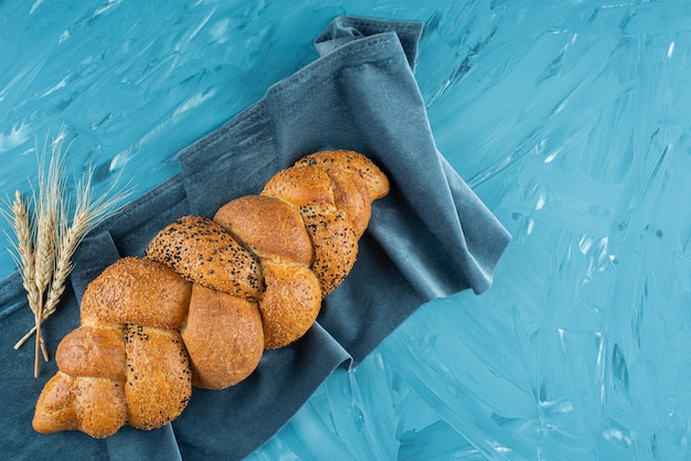
<path fill-rule="evenodd" d="M 513 242 L 251 459 L 691 459 L 691 4 L 425 4 L 0 2 L 0 196 L 62 125 L 71 172 L 146 192 L 333 17 L 424 21 L 439 150 Z"/>

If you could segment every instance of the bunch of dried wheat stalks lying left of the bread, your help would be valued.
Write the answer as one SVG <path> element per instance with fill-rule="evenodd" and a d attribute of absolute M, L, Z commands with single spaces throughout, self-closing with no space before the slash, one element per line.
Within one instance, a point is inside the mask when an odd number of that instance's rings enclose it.
<path fill-rule="evenodd" d="M 29 308 L 34 314 L 33 328 L 14 345 L 21 347 L 35 334 L 34 377 L 40 374 L 40 355 L 49 361 L 41 324 L 55 310 L 72 271 L 72 257 L 84 237 L 103 219 L 117 210 L 132 193 L 131 189 L 115 191 L 115 184 L 103 195 L 94 199 L 92 173 L 76 185 L 76 203 L 72 223 L 68 223 L 70 197 L 65 195 L 64 127 L 51 144 L 51 158 L 46 167 L 47 148 L 39 159 L 39 193 L 33 192 L 33 216 L 19 191 L 10 212 L 2 212 L 14 230 L 17 243 L 12 244 L 14 260 L 22 276 Z M 116 181 L 117 183 L 117 181 Z"/>

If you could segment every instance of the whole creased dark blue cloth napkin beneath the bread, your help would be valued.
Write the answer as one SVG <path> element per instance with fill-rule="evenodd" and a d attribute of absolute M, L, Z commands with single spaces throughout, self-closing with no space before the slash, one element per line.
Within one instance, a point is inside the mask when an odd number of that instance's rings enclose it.
<path fill-rule="evenodd" d="M 107 440 L 32 431 L 41 379 L 25 368 L 32 347 L 12 351 L 31 328 L 21 280 L 0 282 L 4 334 L 0 393 L 8 405 L 0 450 L 32 459 L 241 459 L 272 437 L 338 366 L 354 366 L 422 303 L 492 282 L 510 236 L 436 149 L 414 78 L 423 24 L 339 17 L 315 41 L 320 57 L 268 88 L 253 106 L 184 149 L 180 174 L 129 204 L 79 247 L 73 290 L 45 324 L 56 343 L 78 325 L 86 285 L 126 255 L 140 256 L 167 224 L 211 216 L 300 157 L 351 149 L 389 175 L 373 204 L 358 261 L 297 343 L 265 353 L 257 371 L 224 390 L 194 389 L 185 411 L 153 431 L 124 428 Z M 31 351 L 30 351 L 31 350 Z"/>

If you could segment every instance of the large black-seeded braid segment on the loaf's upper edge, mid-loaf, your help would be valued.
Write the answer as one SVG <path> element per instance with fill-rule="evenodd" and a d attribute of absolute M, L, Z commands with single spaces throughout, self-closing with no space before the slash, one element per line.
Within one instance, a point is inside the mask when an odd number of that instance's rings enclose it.
<path fill-rule="evenodd" d="M 224 293 L 258 299 L 264 291 L 256 257 L 203 216 L 183 216 L 168 225 L 151 240 L 146 257 Z"/>

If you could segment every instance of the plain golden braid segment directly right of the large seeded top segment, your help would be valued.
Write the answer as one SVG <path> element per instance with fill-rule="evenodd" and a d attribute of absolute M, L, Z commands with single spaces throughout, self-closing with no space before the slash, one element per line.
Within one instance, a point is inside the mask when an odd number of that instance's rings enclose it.
<path fill-rule="evenodd" d="M 312 242 L 300 214 L 279 199 L 243 196 L 223 205 L 213 219 L 261 258 L 312 261 Z"/>

